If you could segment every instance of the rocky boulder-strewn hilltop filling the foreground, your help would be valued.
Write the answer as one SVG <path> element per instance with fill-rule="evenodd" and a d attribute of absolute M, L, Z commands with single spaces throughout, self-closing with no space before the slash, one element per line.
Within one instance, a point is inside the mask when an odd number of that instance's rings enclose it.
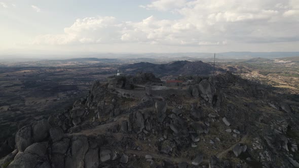
<path fill-rule="evenodd" d="M 97 81 L 71 109 L 21 128 L 0 165 L 299 167 L 297 102 L 232 73 L 184 80 L 168 92 L 147 73 Z"/>

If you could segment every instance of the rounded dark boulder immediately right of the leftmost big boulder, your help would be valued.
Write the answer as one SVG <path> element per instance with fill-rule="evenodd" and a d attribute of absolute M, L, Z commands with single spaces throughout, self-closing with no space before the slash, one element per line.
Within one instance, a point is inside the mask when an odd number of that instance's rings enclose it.
<path fill-rule="evenodd" d="M 42 142 L 49 136 L 50 124 L 47 119 L 39 120 L 32 125 L 32 135 L 34 142 Z"/>

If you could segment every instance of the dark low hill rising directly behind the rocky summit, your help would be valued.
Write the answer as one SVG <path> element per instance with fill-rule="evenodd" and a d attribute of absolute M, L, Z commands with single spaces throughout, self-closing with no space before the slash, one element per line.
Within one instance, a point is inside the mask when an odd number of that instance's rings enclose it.
<path fill-rule="evenodd" d="M 153 64 L 148 62 L 140 62 L 122 66 L 120 67 L 120 70 L 123 71 L 123 73 L 125 74 L 135 74 L 138 72 L 153 72 L 155 75 L 158 76 L 165 76 L 169 74 L 209 75 L 213 72 L 213 66 L 202 61 L 174 61 L 167 64 Z M 217 70 L 223 71 L 222 69 Z"/>

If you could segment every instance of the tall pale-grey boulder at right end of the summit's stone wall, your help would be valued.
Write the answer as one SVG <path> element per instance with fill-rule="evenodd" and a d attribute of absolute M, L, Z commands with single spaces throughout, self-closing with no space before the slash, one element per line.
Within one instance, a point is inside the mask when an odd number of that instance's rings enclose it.
<path fill-rule="evenodd" d="M 209 80 L 204 79 L 199 83 L 200 96 L 209 103 L 213 102 L 214 89 Z"/>

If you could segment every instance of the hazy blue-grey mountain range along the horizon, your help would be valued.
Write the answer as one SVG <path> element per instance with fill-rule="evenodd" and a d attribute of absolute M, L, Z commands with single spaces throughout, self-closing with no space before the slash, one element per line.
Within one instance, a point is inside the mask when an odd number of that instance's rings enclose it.
<path fill-rule="evenodd" d="M 283 58 L 299 57 L 299 52 L 222 52 L 216 53 L 218 59 L 250 59 L 250 58 Z M 131 61 L 153 62 L 154 60 L 193 60 L 193 59 L 210 59 L 214 58 L 214 53 L 98 53 L 98 54 L 73 54 L 73 55 L 0 55 L 1 61 L 40 61 L 40 60 L 61 60 L 77 58 L 108 58 L 108 59 L 130 59 Z M 143 59 L 143 60 L 142 60 Z M 145 59 L 145 60 L 144 60 Z M 154 60 L 153 60 L 154 59 Z M 151 61 L 152 60 L 152 61 Z"/>

